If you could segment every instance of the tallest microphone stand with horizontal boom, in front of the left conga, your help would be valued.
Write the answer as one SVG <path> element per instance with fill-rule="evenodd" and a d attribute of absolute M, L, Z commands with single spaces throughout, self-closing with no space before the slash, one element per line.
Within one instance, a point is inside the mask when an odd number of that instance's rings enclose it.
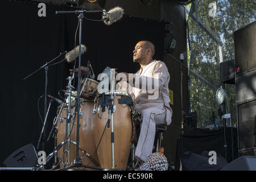
<path fill-rule="evenodd" d="M 88 166 L 82 165 L 81 163 L 81 158 L 79 157 L 79 127 L 80 127 L 80 84 L 81 84 L 81 44 L 82 44 L 82 19 L 84 18 L 84 13 L 97 13 L 97 12 L 102 12 L 102 11 L 87 11 L 87 10 L 76 10 L 76 11 L 56 11 L 56 14 L 79 14 L 78 18 L 79 18 L 79 67 L 78 67 L 78 85 L 77 85 L 77 130 L 76 130 L 76 159 L 74 161 L 74 165 L 73 166 L 69 166 L 65 169 L 70 169 L 73 167 L 85 167 L 85 168 L 90 168 Z"/>

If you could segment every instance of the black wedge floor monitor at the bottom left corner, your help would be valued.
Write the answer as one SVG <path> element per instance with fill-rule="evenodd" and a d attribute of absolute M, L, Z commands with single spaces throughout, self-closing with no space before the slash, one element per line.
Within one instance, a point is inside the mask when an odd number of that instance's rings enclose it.
<path fill-rule="evenodd" d="M 7 167 L 35 167 L 38 161 L 35 147 L 27 144 L 8 156 L 3 164 Z"/>

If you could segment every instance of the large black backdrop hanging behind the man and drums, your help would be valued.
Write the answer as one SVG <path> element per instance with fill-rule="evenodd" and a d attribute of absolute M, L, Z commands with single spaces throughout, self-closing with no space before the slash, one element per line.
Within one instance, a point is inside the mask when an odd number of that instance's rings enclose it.
<path fill-rule="evenodd" d="M 56 10 L 66 9 L 47 5 L 46 17 L 39 17 L 38 3 L 1 1 L 1 167 L 5 167 L 3 160 L 18 148 L 28 143 L 37 145 L 43 127 L 37 104 L 40 96 L 44 95 L 45 72 L 42 69 L 25 81 L 23 78 L 60 52 L 75 47 L 77 15 L 55 14 Z M 86 16 L 100 18 L 100 14 Z M 139 40 L 153 42 L 156 47 L 154 58 L 163 60 L 164 22 L 124 16 L 112 26 L 84 19 L 82 28 L 82 43 L 87 51 L 82 55 L 81 65 L 86 66 L 90 60 L 96 78 L 107 66 L 117 68 L 118 72 L 136 72 L 139 65 L 133 63 L 132 55 Z M 47 94 L 60 98 L 57 93 L 65 89 L 72 67 L 73 63 L 67 62 L 49 67 Z M 44 97 L 39 101 L 42 117 L 43 107 Z M 47 137 L 56 108 L 57 104 L 53 102 L 47 120 Z M 47 155 L 53 151 L 52 138 L 46 142 L 45 151 Z"/>

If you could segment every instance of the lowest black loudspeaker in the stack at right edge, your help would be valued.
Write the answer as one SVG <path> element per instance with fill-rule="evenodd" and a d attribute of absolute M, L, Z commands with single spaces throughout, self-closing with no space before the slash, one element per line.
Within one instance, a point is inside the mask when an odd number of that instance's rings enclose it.
<path fill-rule="evenodd" d="M 237 105 L 238 150 L 249 150 L 256 144 L 256 100 Z"/>

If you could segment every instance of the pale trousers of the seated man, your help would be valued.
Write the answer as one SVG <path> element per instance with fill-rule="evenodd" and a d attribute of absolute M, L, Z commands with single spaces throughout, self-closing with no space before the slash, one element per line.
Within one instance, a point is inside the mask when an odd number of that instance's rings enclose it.
<path fill-rule="evenodd" d="M 135 150 L 135 158 L 145 161 L 152 154 L 155 140 L 155 125 L 166 124 L 166 109 L 149 107 L 141 112 L 141 133 Z"/>

